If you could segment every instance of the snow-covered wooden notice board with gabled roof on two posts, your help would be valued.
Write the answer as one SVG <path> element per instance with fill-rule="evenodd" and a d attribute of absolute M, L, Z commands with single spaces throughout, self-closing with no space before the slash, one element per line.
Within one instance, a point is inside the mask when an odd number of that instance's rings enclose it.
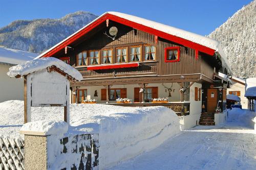
<path fill-rule="evenodd" d="M 9 68 L 10 77 L 24 77 L 24 123 L 31 122 L 31 107 L 63 106 L 69 123 L 70 81 L 81 81 L 79 71 L 65 62 L 48 57 Z"/>

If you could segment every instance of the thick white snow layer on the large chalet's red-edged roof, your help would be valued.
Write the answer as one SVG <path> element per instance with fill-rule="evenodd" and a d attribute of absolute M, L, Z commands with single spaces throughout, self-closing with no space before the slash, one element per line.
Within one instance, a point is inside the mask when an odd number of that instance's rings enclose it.
<path fill-rule="evenodd" d="M 70 39 L 71 37 L 73 37 L 74 35 L 76 35 L 80 31 L 82 31 L 83 29 L 87 28 L 93 22 L 100 19 L 103 15 L 106 15 L 106 14 L 112 14 L 112 15 L 118 16 L 120 18 L 124 18 L 124 19 L 130 20 L 132 22 L 139 23 L 140 25 L 143 25 L 143 26 L 146 26 L 146 27 L 149 27 L 149 28 L 152 28 L 152 29 L 156 29 L 156 30 L 162 31 L 164 33 L 174 35 L 174 36 L 177 36 L 177 37 L 180 37 L 180 38 L 183 38 L 183 39 L 201 44 L 203 46 L 209 47 L 209 48 L 215 50 L 216 52 L 218 52 L 221 55 L 222 63 L 225 63 L 228 66 L 228 68 L 231 70 L 231 67 L 230 67 L 230 65 L 227 61 L 227 58 L 225 56 L 225 53 L 223 52 L 221 43 L 219 41 L 216 41 L 214 39 L 211 39 L 211 38 L 208 38 L 208 37 L 205 37 L 205 36 L 202 36 L 202 35 L 191 33 L 191 32 L 188 32 L 188 31 L 185 31 L 185 30 L 182 30 L 182 29 L 167 26 L 167 25 L 164 25 L 164 24 L 159 23 L 159 22 L 155 22 L 155 21 L 152 21 L 152 20 L 148 20 L 148 19 L 144 19 L 144 18 L 140 18 L 140 17 L 137 17 L 137 16 L 124 14 L 124 13 L 120 13 L 120 12 L 105 12 L 104 14 L 100 15 L 98 18 L 96 18 L 95 20 L 90 22 L 87 26 L 84 26 L 83 28 L 81 28 L 80 30 L 78 30 L 77 32 L 72 34 L 71 36 L 67 37 L 63 41 L 54 45 L 48 51 L 40 54 L 37 58 L 40 58 L 40 57 L 44 56 L 45 54 L 47 54 L 48 52 L 53 50 L 55 47 L 57 47 L 61 43 L 65 42 L 66 40 Z"/>

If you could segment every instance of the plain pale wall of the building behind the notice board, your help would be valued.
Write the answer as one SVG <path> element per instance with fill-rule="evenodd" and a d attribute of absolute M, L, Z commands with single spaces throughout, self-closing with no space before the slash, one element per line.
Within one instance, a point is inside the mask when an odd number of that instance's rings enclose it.
<path fill-rule="evenodd" d="M 24 100 L 24 79 L 7 76 L 10 65 L 0 64 L 0 102 Z"/>

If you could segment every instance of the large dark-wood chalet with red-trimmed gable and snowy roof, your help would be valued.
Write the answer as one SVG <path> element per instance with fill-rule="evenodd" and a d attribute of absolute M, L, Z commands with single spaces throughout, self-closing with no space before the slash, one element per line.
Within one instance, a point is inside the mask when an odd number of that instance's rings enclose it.
<path fill-rule="evenodd" d="M 221 44 L 210 38 L 132 15 L 106 12 L 40 57 L 56 57 L 83 76 L 71 83 L 72 102 L 97 99 L 122 106 L 172 108 L 187 127 L 214 125 L 207 114 L 226 109 L 231 69 Z M 130 104 L 116 104 L 129 98 Z M 168 103 L 152 103 L 168 98 Z M 202 110 L 203 108 L 203 110 Z M 201 112 L 206 116 L 201 116 Z M 214 116 L 214 115 L 210 115 Z M 209 116 L 208 116 L 209 117 Z"/>

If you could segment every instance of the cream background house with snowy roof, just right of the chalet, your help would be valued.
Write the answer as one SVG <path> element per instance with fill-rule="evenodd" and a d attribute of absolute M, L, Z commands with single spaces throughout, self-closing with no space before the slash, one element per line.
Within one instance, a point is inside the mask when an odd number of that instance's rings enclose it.
<path fill-rule="evenodd" d="M 241 105 L 243 109 L 247 109 L 248 106 L 248 100 L 244 96 L 245 94 L 245 80 L 232 77 L 230 78 L 232 85 L 230 88 L 227 89 L 227 94 L 233 94 L 239 96 L 241 99 Z"/>

